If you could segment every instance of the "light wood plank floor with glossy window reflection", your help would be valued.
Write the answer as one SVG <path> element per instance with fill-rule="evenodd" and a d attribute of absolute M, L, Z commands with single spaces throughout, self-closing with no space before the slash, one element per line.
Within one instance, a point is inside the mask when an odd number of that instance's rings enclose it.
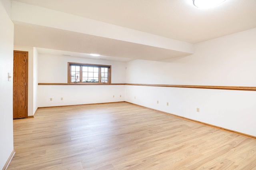
<path fill-rule="evenodd" d="M 38 109 L 14 150 L 9 170 L 256 169 L 256 140 L 125 102 Z"/>

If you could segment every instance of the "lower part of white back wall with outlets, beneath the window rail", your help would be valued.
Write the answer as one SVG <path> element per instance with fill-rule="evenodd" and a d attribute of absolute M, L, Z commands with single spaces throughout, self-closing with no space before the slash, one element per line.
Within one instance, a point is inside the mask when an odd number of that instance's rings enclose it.
<path fill-rule="evenodd" d="M 38 107 L 124 101 L 124 86 L 38 85 Z"/>

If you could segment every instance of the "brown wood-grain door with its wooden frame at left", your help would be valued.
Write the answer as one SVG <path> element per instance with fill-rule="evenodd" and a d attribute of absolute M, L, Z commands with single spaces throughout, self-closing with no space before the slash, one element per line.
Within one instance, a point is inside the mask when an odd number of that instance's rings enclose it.
<path fill-rule="evenodd" d="M 28 52 L 13 53 L 13 119 L 28 118 Z"/>

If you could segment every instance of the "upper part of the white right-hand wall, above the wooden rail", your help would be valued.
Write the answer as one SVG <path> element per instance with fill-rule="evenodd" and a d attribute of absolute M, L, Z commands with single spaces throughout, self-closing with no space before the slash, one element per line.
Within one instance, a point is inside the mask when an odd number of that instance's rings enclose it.
<path fill-rule="evenodd" d="M 195 44 L 168 62 L 127 63 L 127 83 L 256 86 L 256 28 Z M 157 57 L 157 56 L 156 56 Z"/>

